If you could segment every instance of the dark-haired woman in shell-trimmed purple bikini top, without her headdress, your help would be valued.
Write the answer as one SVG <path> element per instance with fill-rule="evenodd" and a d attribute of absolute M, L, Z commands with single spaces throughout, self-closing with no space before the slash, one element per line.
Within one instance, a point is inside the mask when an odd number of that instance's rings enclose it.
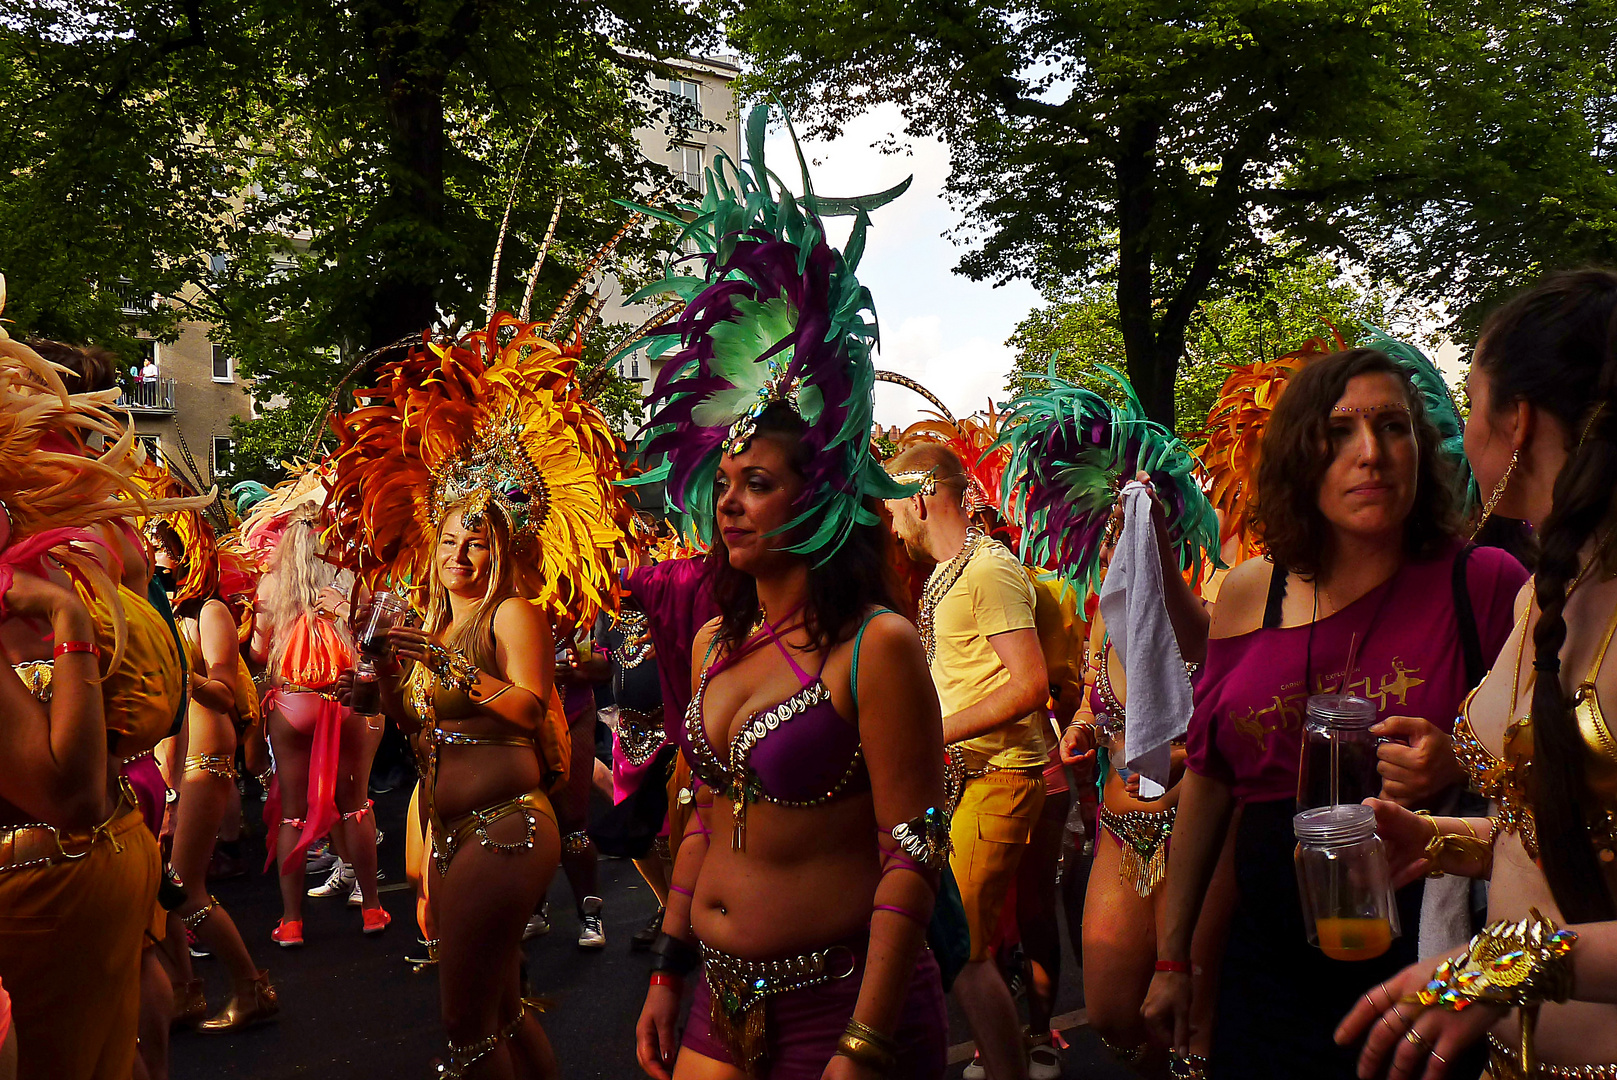
<path fill-rule="evenodd" d="M 949 850 L 938 698 L 915 627 L 888 608 L 878 527 L 823 559 L 792 550 L 794 529 L 815 527 L 799 521 L 802 430 L 771 406 L 720 458 L 708 566 L 724 614 L 697 634 L 671 732 L 690 763 L 690 818 L 637 1027 L 653 1077 L 687 1053 L 818 1080 L 839 1046 L 891 1053 L 893 1077 L 946 1065 L 925 947 Z"/>

